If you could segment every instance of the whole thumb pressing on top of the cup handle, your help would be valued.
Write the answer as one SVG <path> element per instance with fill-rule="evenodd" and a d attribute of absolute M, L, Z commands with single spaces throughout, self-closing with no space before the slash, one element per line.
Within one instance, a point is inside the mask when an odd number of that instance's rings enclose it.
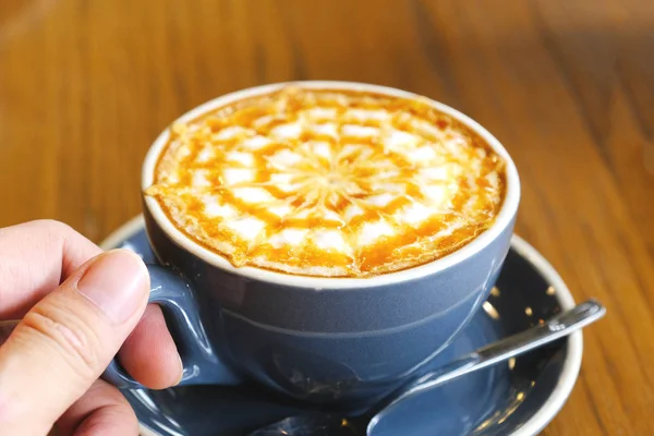
<path fill-rule="evenodd" d="M 0 348 L 0 428 L 47 434 L 136 326 L 148 290 L 143 261 L 117 250 L 80 267 L 36 304 Z"/>

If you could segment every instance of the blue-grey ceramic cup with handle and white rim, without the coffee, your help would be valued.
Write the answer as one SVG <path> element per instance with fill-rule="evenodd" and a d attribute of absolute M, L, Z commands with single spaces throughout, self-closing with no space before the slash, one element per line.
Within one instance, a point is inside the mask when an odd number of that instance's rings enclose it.
<path fill-rule="evenodd" d="M 180 121 L 283 85 L 219 97 Z M 346 82 L 294 85 L 415 97 Z M 359 404 L 416 374 L 467 325 L 485 301 L 509 250 L 520 182 L 511 158 L 491 133 L 443 104 L 432 105 L 470 126 L 506 160 L 507 191 L 488 230 L 425 265 L 372 278 L 237 268 L 186 238 L 157 201 L 144 197 L 147 234 L 159 261 L 149 266 L 150 302 L 162 306 L 178 343 L 184 366 L 181 385 L 256 380 L 308 401 Z M 153 183 L 168 137 L 168 131 L 161 133 L 145 158 L 144 190 Z M 116 362 L 105 377 L 120 387 L 141 387 Z"/>

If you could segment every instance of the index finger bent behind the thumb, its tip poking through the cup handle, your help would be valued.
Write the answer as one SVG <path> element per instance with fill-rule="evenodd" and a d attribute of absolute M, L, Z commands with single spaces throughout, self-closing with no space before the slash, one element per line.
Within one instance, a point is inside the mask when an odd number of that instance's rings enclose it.
<path fill-rule="evenodd" d="M 0 229 L 0 319 L 22 318 L 38 301 L 102 250 L 69 226 L 31 221 Z M 0 323 L 0 346 L 15 325 Z M 158 307 L 144 318 L 121 350 L 121 363 L 134 378 L 153 388 L 179 382 L 177 347 Z"/>

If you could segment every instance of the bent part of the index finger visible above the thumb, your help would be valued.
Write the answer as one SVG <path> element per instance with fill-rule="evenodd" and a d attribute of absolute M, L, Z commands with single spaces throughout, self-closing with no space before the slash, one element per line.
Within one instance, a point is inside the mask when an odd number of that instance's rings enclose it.
<path fill-rule="evenodd" d="M 0 229 L 0 319 L 22 318 L 102 250 L 71 227 L 36 220 Z"/>

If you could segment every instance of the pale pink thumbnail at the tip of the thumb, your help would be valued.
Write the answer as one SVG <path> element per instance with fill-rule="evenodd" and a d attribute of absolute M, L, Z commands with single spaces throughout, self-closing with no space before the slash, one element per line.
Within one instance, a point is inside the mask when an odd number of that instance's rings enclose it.
<path fill-rule="evenodd" d="M 126 250 L 101 254 L 77 282 L 77 290 L 113 323 L 130 319 L 147 293 L 147 269 Z"/>

